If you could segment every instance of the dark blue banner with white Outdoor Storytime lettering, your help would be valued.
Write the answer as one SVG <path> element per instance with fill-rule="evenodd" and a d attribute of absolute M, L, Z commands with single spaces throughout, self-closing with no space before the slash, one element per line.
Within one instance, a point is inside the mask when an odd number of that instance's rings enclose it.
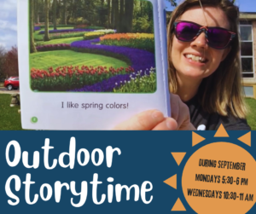
<path fill-rule="evenodd" d="M 215 131 L 0 131 L 1 208 L 3 213 L 180 213 L 175 207 L 183 207 L 195 213 L 182 187 L 184 167 L 193 153 L 216 144 L 212 142 L 232 142 L 256 155 L 253 141 L 249 147 L 238 140 L 247 132 L 228 134 L 216 138 Z M 202 142 L 193 145 L 198 136 Z M 168 184 L 174 175 L 177 181 Z M 225 196 L 211 197 L 224 201 Z M 255 211 L 253 206 L 247 213 Z"/>

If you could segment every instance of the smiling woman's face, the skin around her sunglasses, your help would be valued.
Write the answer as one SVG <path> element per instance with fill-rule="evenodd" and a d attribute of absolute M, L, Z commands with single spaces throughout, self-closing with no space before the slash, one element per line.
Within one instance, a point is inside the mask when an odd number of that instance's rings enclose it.
<path fill-rule="evenodd" d="M 205 16 L 207 19 L 205 19 Z M 204 14 L 200 7 L 187 10 L 178 20 L 193 21 L 201 26 L 219 26 L 230 28 L 229 21 L 221 9 L 206 7 Z M 224 61 L 230 49 L 213 49 L 207 45 L 207 38 L 202 32 L 192 42 L 182 42 L 174 36 L 172 41 L 172 63 L 179 78 L 201 80 L 215 72 L 221 61 Z M 195 56 L 204 57 L 201 62 Z"/>

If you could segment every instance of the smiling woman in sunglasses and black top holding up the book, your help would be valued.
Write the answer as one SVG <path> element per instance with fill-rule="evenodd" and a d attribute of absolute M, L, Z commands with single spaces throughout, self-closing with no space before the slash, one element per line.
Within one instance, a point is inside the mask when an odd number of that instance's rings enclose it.
<path fill-rule="evenodd" d="M 177 6 L 167 37 L 172 118 L 151 110 L 115 129 L 217 130 L 224 124 L 226 130 L 250 130 L 241 93 L 238 16 L 230 0 Z"/>

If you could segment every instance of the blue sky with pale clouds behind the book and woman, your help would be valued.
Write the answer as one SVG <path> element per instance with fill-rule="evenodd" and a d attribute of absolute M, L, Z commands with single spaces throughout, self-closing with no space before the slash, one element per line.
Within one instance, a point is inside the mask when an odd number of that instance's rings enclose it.
<path fill-rule="evenodd" d="M 236 4 L 241 12 L 256 12 L 256 0 L 236 0 Z M 167 1 L 166 8 L 174 9 Z M 0 0 L 0 45 L 7 50 L 17 45 L 17 0 Z"/>

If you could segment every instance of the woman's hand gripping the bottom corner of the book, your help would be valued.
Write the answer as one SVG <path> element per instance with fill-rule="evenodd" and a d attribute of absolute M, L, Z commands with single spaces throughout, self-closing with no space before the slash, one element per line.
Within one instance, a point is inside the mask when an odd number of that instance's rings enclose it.
<path fill-rule="evenodd" d="M 171 95 L 172 118 L 165 118 L 158 110 L 138 113 L 118 124 L 113 130 L 195 130 L 190 123 L 189 107 L 178 95 Z"/>

